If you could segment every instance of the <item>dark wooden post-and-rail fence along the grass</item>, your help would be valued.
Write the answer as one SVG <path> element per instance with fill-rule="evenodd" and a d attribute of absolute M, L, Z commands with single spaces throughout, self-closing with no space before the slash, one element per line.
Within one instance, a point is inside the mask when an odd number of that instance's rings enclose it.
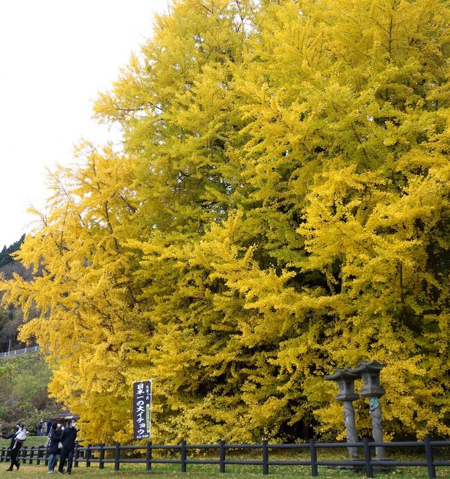
<path fill-rule="evenodd" d="M 363 458 L 360 460 L 318 460 L 318 449 L 330 448 L 348 448 L 356 447 L 362 449 Z M 417 447 L 424 452 L 425 460 L 379 460 L 372 457 L 372 448 L 386 447 L 406 449 Z M 152 470 L 152 464 L 180 464 L 181 472 L 186 472 L 188 464 L 212 464 L 219 466 L 219 472 L 224 473 L 226 466 L 229 465 L 255 465 L 262 467 L 264 475 L 269 473 L 269 467 L 275 466 L 306 466 L 311 471 L 311 476 L 318 476 L 318 466 L 326 467 L 345 467 L 350 469 L 360 469 L 366 471 L 366 477 L 372 478 L 374 471 L 386 470 L 386 468 L 393 467 L 426 467 L 428 469 L 429 478 L 436 478 L 436 467 L 450 467 L 450 460 L 435 460 L 433 448 L 447 448 L 450 447 L 450 441 L 432 441 L 427 436 L 420 442 L 370 442 L 369 438 L 364 438 L 363 442 L 314 442 L 310 440 L 305 444 L 269 444 L 267 441 L 262 441 L 261 444 L 226 444 L 224 441 L 219 441 L 218 444 L 186 444 L 186 441 L 177 445 L 163 445 L 152 444 L 151 441 L 143 446 L 121 446 L 119 443 L 114 446 L 106 446 L 105 444 L 92 445 L 87 447 L 75 447 L 73 454 L 73 467 L 78 467 L 80 462 L 84 462 L 86 467 L 91 464 L 98 464 L 99 469 L 103 469 L 107 463 L 114 463 L 114 470 L 119 471 L 120 464 L 145 464 L 146 471 Z M 218 458 L 188 458 L 188 451 L 192 450 L 210 450 L 217 451 Z M 260 459 L 237 460 L 233 458 L 226 458 L 226 452 L 233 449 L 233 451 L 244 451 L 253 449 L 260 452 Z M 280 449 L 287 449 L 293 451 L 305 450 L 309 452 L 309 460 L 270 460 L 269 452 Z M 111 452 L 111 457 L 105 457 L 107 451 Z M 140 451 L 145 455 L 141 458 L 124 458 L 121 457 L 121 451 L 132 451 L 136 453 Z M 177 453 L 179 458 L 154 458 L 154 451 L 172 451 Z M 95 455 L 93 454 L 95 453 Z M 0 451 L 0 462 L 7 461 L 10 456 L 10 449 L 3 447 Z M 113 457 L 114 456 L 114 457 Z M 28 464 L 40 464 L 44 462 L 48 465 L 48 450 L 44 446 L 27 447 L 21 449 L 19 460 L 23 463 L 28 461 Z"/>

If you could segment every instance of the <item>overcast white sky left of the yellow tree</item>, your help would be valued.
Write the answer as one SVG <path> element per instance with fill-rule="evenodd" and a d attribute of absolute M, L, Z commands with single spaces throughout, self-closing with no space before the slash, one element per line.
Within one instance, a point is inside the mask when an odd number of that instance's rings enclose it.
<path fill-rule="evenodd" d="M 92 100 L 166 10 L 168 0 L 0 1 L 0 250 L 44 204 L 46 167 L 71 163 L 80 138 L 111 136 L 91 120 Z"/>

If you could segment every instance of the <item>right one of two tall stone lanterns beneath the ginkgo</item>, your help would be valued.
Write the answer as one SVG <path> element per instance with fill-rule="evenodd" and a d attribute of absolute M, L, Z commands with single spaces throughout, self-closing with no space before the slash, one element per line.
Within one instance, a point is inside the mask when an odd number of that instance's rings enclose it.
<path fill-rule="evenodd" d="M 368 397 L 372 436 L 375 442 L 383 442 L 383 417 L 379 404 L 379 398 L 386 393 L 379 382 L 379 373 L 383 367 L 377 361 L 361 361 L 356 368 L 350 370 L 352 374 L 361 377 L 363 382 L 363 388 L 359 391 L 359 395 Z M 384 447 L 375 447 L 375 451 L 377 459 L 384 458 Z"/>

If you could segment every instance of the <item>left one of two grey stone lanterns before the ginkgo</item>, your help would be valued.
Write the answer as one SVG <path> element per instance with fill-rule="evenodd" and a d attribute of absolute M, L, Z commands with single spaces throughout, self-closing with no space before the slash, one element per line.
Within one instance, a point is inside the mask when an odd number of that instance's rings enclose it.
<path fill-rule="evenodd" d="M 344 424 L 347 432 L 347 442 L 358 442 L 357 427 L 354 422 L 354 408 L 353 401 L 359 398 L 359 395 L 354 392 L 354 379 L 359 376 L 352 373 L 349 369 L 337 368 L 333 374 L 325 376 L 327 381 L 336 381 L 339 388 L 339 394 L 336 395 L 336 400 L 341 401 L 344 406 L 343 416 Z M 358 456 L 357 447 L 349 447 L 348 454 L 350 459 L 355 459 Z"/>

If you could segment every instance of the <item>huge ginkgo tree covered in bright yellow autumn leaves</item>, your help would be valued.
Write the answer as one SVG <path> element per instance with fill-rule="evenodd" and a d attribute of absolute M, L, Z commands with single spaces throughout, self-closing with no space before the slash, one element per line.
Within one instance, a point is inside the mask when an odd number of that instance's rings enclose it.
<path fill-rule="evenodd" d="M 87 440 L 343 429 L 323 375 L 385 365 L 389 437 L 448 435 L 449 9 L 175 1 L 99 96 L 3 282 Z M 357 405 L 361 433 L 370 424 Z"/>

